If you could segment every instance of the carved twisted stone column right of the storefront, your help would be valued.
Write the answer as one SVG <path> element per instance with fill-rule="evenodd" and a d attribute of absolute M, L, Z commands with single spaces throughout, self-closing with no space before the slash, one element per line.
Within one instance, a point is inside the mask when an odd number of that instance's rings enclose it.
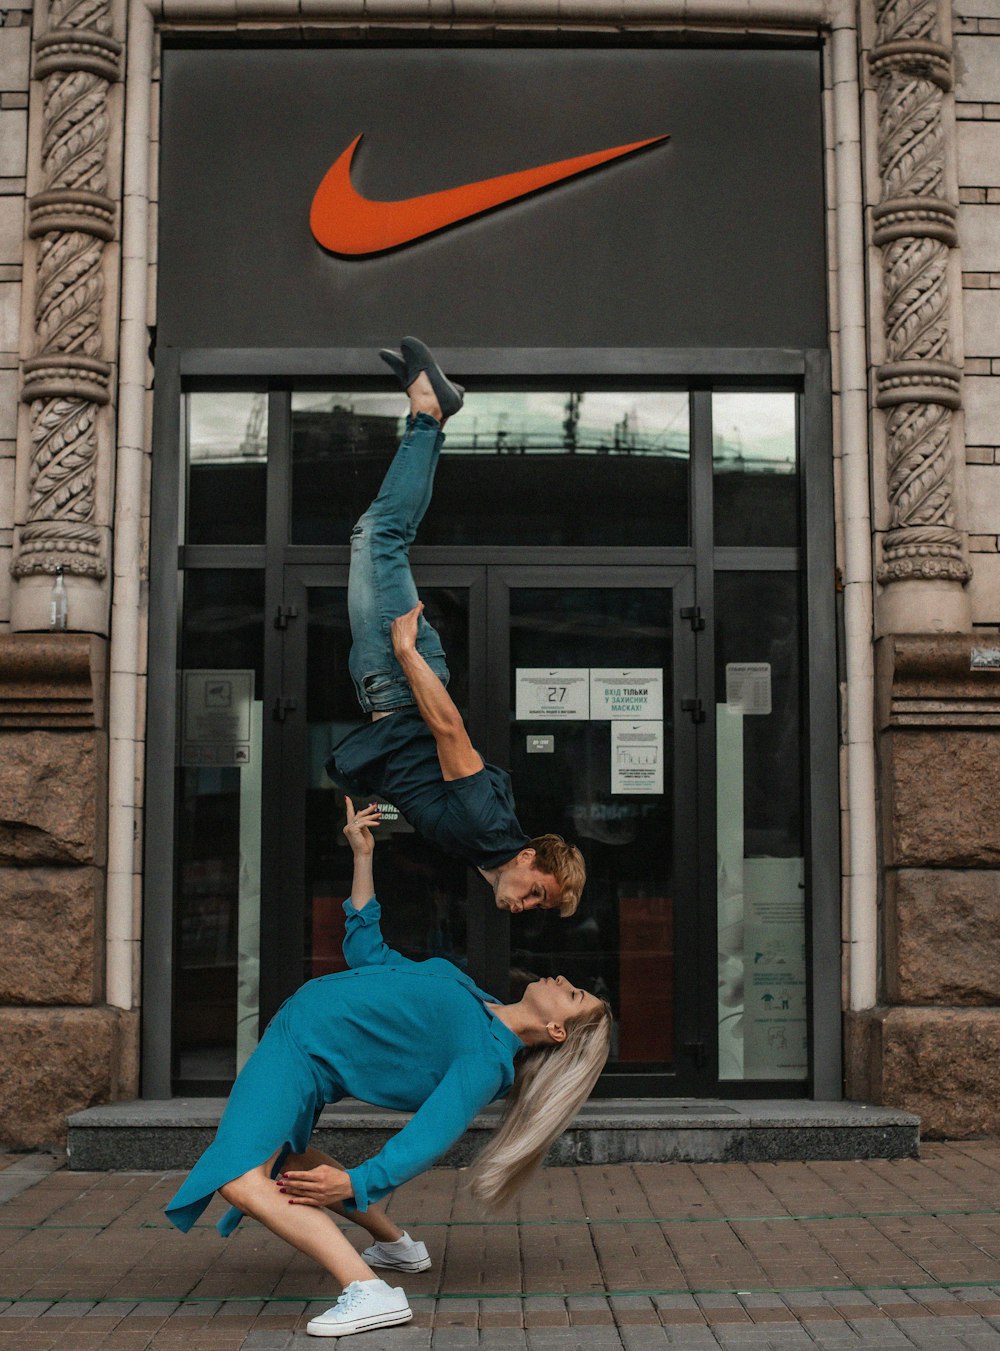
<path fill-rule="evenodd" d="M 877 89 L 885 361 L 876 404 L 885 409 L 889 528 L 878 581 L 882 632 L 970 627 L 972 569 L 955 520 L 953 412 L 961 370 L 949 322 L 949 250 L 958 208 L 949 200 L 942 104 L 951 50 L 936 0 L 878 0 L 869 63 Z M 950 32 L 947 34 L 950 42 Z M 958 354 L 961 359 L 961 354 Z M 959 470 L 961 471 L 961 470 Z"/>

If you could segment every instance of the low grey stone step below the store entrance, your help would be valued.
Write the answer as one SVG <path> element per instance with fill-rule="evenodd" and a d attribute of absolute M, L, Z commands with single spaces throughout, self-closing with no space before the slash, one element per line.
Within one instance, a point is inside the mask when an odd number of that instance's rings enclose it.
<path fill-rule="evenodd" d="M 189 1169 L 211 1144 L 224 1098 L 112 1102 L 69 1119 L 69 1166 L 81 1171 Z M 477 1116 L 439 1161 L 470 1163 L 499 1106 Z M 370 1158 L 409 1117 L 346 1100 L 327 1106 L 314 1144 L 349 1166 Z M 915 1156 L 920 1120 L 866 1102 L 604 1098 L 588 1102 L 553 1144 L 547 1165 L 768 1163 Z"/>

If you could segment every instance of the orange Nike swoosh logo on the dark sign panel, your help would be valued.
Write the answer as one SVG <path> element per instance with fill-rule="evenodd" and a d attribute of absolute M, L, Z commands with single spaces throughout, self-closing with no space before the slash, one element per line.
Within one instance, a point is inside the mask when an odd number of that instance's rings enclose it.
<path fill-rule="evenodd" d="M 364 132 L 362 132 L 364 135 Z M 646 146 L 655 146 L 668 136 L 650 136 L 627 146 L 612 146 L 574 159 L 558 159 L 536 169 L 500 174 L 466 182 L 445 192 L 428 192 L 423 197 L 404 197 L 403 201 L 370 201 L 362 197 L 351 182 L 351 161 L 361 136 L 355 136 L 341 158 L 327 170 L 312 199 L 309 226 L 312 234 L 331 253 L 359 257 L 385 253 L 400 245 L 423 239 L 459 220 L 481 216 L 484 211 L 503 207 L 508 201 L 527 197 L 542 188 L 576 178 L 577 174 L 597 169 L 612 159 L 634 155 Z"/>

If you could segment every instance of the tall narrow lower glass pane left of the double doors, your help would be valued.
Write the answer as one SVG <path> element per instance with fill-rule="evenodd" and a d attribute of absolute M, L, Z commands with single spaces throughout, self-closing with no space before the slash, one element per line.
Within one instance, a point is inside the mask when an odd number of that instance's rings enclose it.
<path fill-rule="evenodd" d="M 257 1040 L 264 574 L 184 586 L 174 786 L 174 1079 L 219 1092 Z"/>

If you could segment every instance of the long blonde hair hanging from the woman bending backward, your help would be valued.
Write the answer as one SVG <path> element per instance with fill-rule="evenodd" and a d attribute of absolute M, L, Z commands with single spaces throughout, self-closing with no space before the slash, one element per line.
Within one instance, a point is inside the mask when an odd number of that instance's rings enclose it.
<path fill-rule="evenodd" d="M 566 1020 L 566 1040 L 518 1058 L 514 1086 L 492 1140 L 469 1171 L 469 1188 L 491 1210 L 504 1205 L 542 1163 L 591 1096 L 611 1048 L 611 1005 Z"/>

